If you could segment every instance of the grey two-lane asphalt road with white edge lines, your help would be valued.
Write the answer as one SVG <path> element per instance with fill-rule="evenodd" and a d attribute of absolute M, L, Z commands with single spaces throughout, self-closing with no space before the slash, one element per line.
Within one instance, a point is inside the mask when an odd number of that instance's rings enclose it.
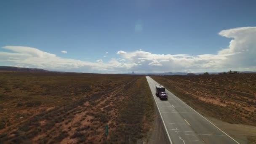
<path fill-rule="evenodd" d="M 147 81 L 171 144 L 239 144 L 170 91 L 165 90 L 168 101 L 161 101 L 155 95 L 155 85 L 160 84 L 151 77 Z"/>

